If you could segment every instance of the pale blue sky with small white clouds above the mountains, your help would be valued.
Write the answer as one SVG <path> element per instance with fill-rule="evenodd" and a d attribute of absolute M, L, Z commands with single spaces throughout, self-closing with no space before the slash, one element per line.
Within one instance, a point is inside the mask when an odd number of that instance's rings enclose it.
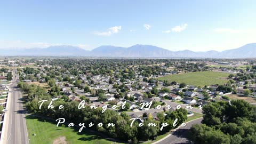
<path fill-rule="evenodd" d="M 256 1 L 0 1 L 0 48 L 148 44 L 223 51 L 256 42 Z"/>

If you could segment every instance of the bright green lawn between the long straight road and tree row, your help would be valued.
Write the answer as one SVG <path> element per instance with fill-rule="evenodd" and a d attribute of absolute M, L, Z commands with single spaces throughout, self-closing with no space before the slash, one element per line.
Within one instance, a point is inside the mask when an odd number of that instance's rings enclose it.
<path fill-rule="evenodd" d="M 98 135 L 93 134 L 90 130 L 83 129 L 81 133 L 71 127 L 57 127 L 56 122 L 49 119 L 36 117 L 33 115 L 26 116 L 28 135 L 31 144 L 49 143 L 59 137 L 66 137 L 67 142 L 70 143 L 115 143 L 106 140 Z M 33 136 L 33 134 L 36 136 Z"/>

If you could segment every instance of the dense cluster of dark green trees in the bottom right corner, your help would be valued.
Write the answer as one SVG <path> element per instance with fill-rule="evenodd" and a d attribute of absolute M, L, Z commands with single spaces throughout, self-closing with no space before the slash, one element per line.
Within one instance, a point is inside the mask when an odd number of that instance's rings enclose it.
<path fill-rule="evenodd" d="M 203 107 L 203 124 L 193 125 L 195 143 L 256 143 L 256 107 L 244 100 L 210 103 Z"/>

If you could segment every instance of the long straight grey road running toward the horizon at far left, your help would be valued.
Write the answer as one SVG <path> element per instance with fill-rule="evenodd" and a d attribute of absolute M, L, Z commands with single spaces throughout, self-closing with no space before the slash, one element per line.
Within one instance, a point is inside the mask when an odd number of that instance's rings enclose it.
<path fill-rule="evenodd" d="M 26 119 L 24 114 L 24 108 L 22 105 L 22 95 L 19 89 L 17 89 L 17 82 L 15 79 L 19 79 L 19 77 L 15 77 L 16 70 L 13 71 L 13 81 L 9 86 L 9 98 L 10 105 L 7 108 L 7 123 L 6 123 L 6 131 L 7 135 L 4 138 L 4 143 L 8 144 L 27 144 L 28 140 L 28 132 Z"/>

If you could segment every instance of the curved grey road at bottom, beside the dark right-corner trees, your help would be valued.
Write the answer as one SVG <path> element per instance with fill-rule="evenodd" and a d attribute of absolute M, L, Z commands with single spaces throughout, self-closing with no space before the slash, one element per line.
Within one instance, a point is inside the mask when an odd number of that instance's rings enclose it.
<path fill-rule="evenodd" d="M 179 129 L 171 132 L 170 135 L 167 136 L 167 138 L 163 140 L 159 140 L 157 142 L 154 142 L 154 144 L 185 144 L 185 143 L 191 143 L 188 140 L 188 134 L 189 134 L 189 129 L 193 124 L 199 124 L 201 123 L 202 118 L 196 119 L 194 121 L 191 121 L 186 124 L 184 127 L 180 127 Z"/>

